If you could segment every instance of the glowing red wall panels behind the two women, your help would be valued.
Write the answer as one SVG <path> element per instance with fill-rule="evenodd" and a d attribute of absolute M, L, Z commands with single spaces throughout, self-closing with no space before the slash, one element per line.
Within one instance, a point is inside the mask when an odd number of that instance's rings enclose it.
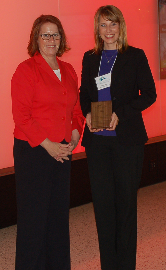
<path fill-rule="evenodd" d="M 52 14 L 60 18 L 72 50 L 62 60 L 70 62 L 79 77 L 82 57 L 92 49 L 93 17 L 96 9 L 110 2 L 102 0 L 29 0 L 3 2 L 0 11 L 0 168 L 13 166 L 13 129 L 10 81 L 16 67 L 28 58 L 27 43 L 34 20 L 41 14 Z M 154 76 L 157 102 L 143 112 L 148 137 L 166 134 L 166 80 L 159 79 L 158 16 L 156 0 L 112 0 L 112 5 L 121 9 L 127 23 L 128 42 L 144 49 Z M 81 152 L 80 145 L 74 151 Z"/>

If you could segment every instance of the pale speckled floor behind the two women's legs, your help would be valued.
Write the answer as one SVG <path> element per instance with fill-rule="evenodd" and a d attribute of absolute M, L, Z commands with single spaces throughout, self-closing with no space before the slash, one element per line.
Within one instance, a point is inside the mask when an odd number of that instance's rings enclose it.
<path fill-rule="evenodd" d="M 16 225 L 0 230 L 0 269 L 14 270 Z M 70 210 L 72 270 L 100 270 L 93 204 Z M 166 270 L 166 181 L 138 191 L 136 270 Z"/>

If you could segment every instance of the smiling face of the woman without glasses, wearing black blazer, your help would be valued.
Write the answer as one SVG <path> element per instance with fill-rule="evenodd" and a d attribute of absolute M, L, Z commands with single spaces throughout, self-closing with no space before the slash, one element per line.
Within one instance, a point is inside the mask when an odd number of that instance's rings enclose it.
<path fill-rule="evenodd" d="M 104 41 L 105 50 L 115 50 L 119 37 L 119 24 L 105 20 L 102 16 L 99 18 L 99 34 Z"/>

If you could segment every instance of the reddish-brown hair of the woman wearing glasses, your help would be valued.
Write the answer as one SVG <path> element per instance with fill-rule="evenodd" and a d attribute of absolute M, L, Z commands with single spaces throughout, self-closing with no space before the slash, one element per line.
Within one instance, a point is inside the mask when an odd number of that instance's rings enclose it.
<path fill-rule="evenodd" d="M 60 35 L 62 35 L 60 39 L 60 46 L 56 53 L 57 56 L 62 56 L 64 52 L 68 52 L 70 50 L 69 45 L 66 40 L 65 31 L 63 30 L 62 24 L 58 18 L 52 15 L 41 15 L 39 16 L 32 26 L 32 31 L 30 34 L 30 39 L 28 42 L 28 53 L 32 57 L 37 52 L 40 53 L 39 46 L 38 46 L 38 33 L 40 31 L 40 27 L 47 22 L 55 23 L 57 25 L 58 31 Z"/>

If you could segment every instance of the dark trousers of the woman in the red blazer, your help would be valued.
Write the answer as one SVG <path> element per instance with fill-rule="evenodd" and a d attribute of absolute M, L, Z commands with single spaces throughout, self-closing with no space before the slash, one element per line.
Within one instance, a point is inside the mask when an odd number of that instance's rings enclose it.
<path fill-rule="evenodd" d="M 66 143 L 63 140 L 63 143 Z M 14 139 L 16 270 L 70 270 L 70 160 Z"/>

